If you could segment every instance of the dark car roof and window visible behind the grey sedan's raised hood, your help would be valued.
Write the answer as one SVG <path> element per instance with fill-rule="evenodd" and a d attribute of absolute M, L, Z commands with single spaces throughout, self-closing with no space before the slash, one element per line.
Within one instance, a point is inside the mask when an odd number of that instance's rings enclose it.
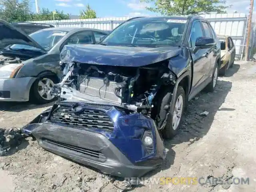
<path fill-rule="evenodd" d="M 44 23 L 31 23 L 31 22 L 15 22 L 11 23 L 12 26 L 24 31 L 26 34 L 31 34 L 41 29 L 53 28 L 53 25 Z"/>

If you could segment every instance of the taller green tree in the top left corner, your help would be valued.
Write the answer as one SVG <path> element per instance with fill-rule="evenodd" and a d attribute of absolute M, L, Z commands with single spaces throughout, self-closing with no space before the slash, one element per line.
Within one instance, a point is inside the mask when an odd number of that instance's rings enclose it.
<path fill-rule="evenodd" d="M 29 0 L 0 0 L 0 17 L 7 22 L 29 21 L 31 9 Z"/>

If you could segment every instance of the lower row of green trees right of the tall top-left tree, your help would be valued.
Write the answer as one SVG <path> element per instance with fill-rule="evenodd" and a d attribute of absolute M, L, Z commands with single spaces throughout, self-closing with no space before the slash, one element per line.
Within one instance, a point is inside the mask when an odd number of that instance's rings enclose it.
<path fill-rule="evenodd" d="M 40 13 L 32 14 L 32 21 L 43 21 L 43 20 L 65 20 L 69 19 L 69 14 L 64 14 L 63 11 L 55 10 L 54 12 L 49 9 L 42 8 Z"/>

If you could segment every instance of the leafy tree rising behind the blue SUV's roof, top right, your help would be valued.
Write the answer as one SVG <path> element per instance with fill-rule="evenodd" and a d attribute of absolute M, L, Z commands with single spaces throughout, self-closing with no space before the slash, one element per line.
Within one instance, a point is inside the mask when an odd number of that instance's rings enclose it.
<path fill-rule="evenodd" d="M 158 12 L 161 15 L 188 15 L 204 12 L 226 13 L 224 6 L 226 0 L 140 0 L 148 4 L 154 3 L 152 7 L 146 7 L 146 10 Z"/>

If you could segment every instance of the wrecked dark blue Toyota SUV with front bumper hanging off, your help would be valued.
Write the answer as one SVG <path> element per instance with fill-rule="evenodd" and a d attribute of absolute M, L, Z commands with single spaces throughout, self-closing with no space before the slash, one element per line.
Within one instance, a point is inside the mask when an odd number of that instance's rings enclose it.
<path fill-rule="evenodd" d="M 177 134 L 188 101 L 214 90 L 220 42 L 200 16 L 135 18 L 100 44 L 65 46 L 60 58 L 60 101 L 24 132 L 104 173 L 140 177 L 164 161 L 160 134 Z"/>

